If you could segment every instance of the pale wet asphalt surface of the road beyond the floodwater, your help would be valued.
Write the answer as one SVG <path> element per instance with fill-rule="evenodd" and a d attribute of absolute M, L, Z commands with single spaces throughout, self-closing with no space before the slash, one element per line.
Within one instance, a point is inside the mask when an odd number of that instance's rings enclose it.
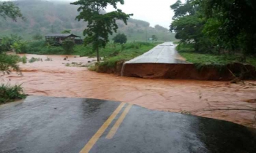
<path fill-rule="evenodd" d="M 187 63 L 175 48 L 173 42 L 165 42 L 126 63 Z"/>

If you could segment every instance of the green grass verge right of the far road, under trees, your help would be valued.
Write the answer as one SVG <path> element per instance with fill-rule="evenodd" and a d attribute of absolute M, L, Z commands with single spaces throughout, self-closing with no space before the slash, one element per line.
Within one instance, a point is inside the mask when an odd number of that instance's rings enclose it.
<path fill-rule="evenodd" d="M 191 44 L 180 44 L 176 47 L 178 53 L 187 59 L 190 63 L 200 63 L 202 65 L 226 65 L 228 63 L 241 63 L 239 55 L 213 55 L 195 52 Z M 246 63 L 256 66 L 256 57 L 247 57 Z"/>

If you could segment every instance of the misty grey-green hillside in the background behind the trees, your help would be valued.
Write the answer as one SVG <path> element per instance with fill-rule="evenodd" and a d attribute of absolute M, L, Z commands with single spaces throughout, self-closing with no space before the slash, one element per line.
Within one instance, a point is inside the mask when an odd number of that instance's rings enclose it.
<path fill-rule="evenodd" d="M 48 33 L 59 33 L 71 29 L 73 34 L 82 36 L 86 23 L 78 22 L 77 7 L 59 1 L 20 0 L 15 1 L 20 7 L 26 20 L 4 20 L 0 18 L 0 36 L 18 34 L 24 39 L 32 39 L 35 34 L 44 36 Z M 159 41 L 174 40 L 174 34 L 167 32 L 167 28 L 156 26 L 152 28 L 143 20 L 129 19 L 126 26 L 118 21 L 118 33 L 127 34 L 129 41 L 146 41 L 146 38 L 156 35 Z M 110 36 L 112 37 L 112 36 Z"/>

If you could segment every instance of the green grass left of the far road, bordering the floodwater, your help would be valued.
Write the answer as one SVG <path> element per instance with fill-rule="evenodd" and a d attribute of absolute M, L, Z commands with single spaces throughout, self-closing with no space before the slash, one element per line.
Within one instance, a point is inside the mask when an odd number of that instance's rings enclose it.
<path fill-rule="evenodd" d="M 99 49 L 99 55 L 103 61 L 96 65 L 97 68 L 91 66 L 89 69 L 108 69 L 115 68 L 119 61 L 131 60 L 144 52 L 151 50 L 161 42 L 129 42 L 127 44 L 113 44 L 109 43 L 105 48 Z M 49 47 L 45 42 L 29 42 L 28 49 L 23 53 L 37 54 L 37 55 L 64 55 L 64 50 L 61 47 Z M 96 57 L 96 52 L 92 50 L 90 45 L 83 44 L 75 45 L 72 55 L 87 56 L 90 58 Z M 30 60 L 29 60 L 30 62 Z"/>

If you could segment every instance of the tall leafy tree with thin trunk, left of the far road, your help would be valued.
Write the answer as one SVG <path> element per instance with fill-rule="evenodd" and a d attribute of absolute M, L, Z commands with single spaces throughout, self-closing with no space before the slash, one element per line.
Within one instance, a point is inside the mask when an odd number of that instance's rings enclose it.
<path fill-rule="evenodd" d="M 105 47 L 109 42 L 108 34 L 116 32 L 118 26 L 116 20 L 123 20 L 127 24 L 127 20 L 132 14 L 125 14 L 121 9 L 117 8 L 117 4 L 124 4 L 124 0 L 78 0 L 74 5 L 80 5 L 78 12 L 80 15 L 77 20 L 88 22 L 87 28 L 83 31 L 86 36 L 84 44 L 92 44 L 93 50 L 97 52 L 97 61 L 99 61 L 99 47 Z M 108 5 L 116 9 L 113 12 L 102 13 Z"/>

